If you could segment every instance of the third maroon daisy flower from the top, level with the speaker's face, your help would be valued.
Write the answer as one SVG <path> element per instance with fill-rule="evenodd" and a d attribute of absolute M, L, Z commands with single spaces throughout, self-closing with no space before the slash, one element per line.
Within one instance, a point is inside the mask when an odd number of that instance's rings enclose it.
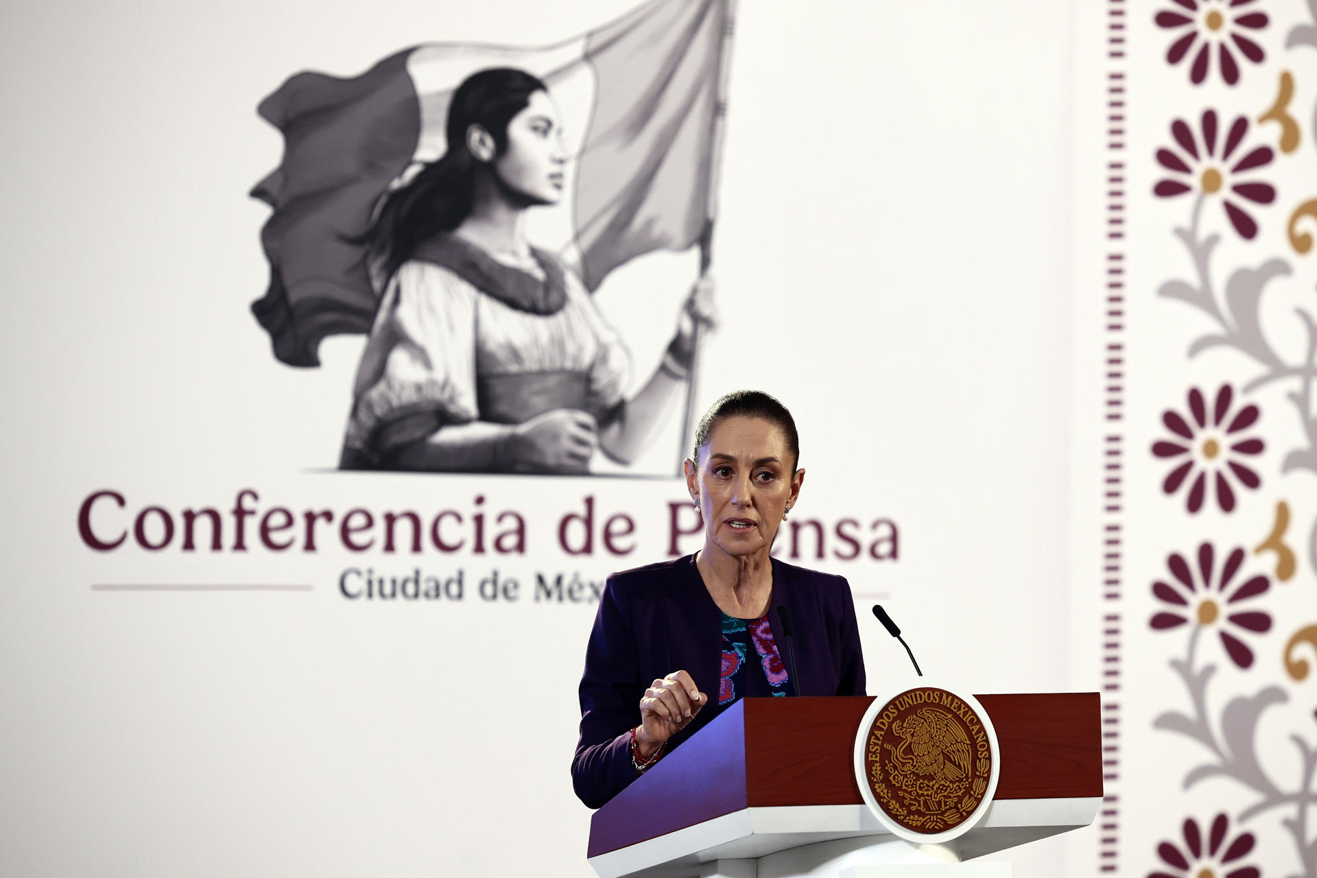
<path fill-rule="evenodd" d="M 1233 512 L 1235 507 L 1235 491 L 1230 487 L 1227 473 L 1249 490 L 1256 490 L 1262 484 L 1262 477 L 1239 459 L 1239 455 L 1260 454 L 1264 448 L 1260 438 L 1245 436 L 1245 430 L 1258 421 L 1258 407 L 1249 403 L 1231 416 L 1233 398 L 1234 391 L 1230 390 L 1230 384 L 1222 384 L 1217 391 L 1212 412 L 1208 412 L 1202 391 L 1193 387 L 1189 390 L 1192 423 L 1173 409 L 1162 412 L 1162 423 L 1175 436 L 1171 440 L 1154 442 L 1152 453 L 1158 457 L 1176 458 L 1175 469 L 1167 474 L 1162 490 L 1175 494 L 1181 484 L 1188 483 L 1185 507 L 1189 512 L 1202 508 L 1209 475 L 1216 487 L 1217 505 L 1222 512 Z"/>

